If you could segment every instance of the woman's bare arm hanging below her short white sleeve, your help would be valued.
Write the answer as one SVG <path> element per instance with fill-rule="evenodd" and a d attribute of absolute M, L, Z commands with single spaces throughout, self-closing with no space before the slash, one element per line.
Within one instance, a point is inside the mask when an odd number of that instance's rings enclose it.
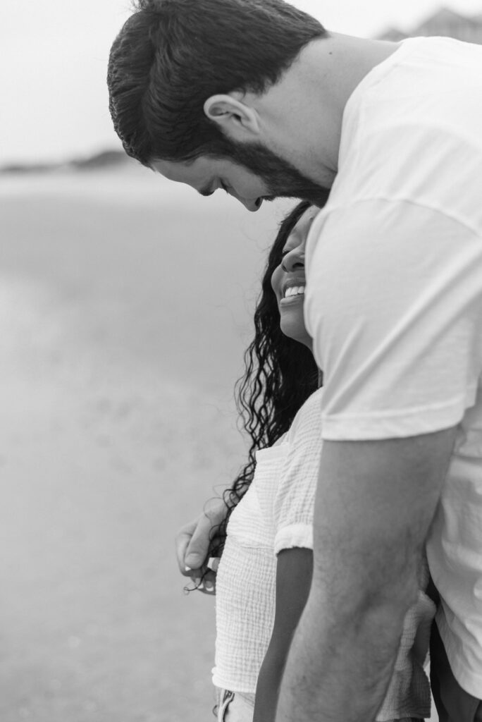
<path fill-rule="evenodd" d="M 276 566 L 276 612 L 256 687 L 253 722 L 274 722 L 279 685 L 294 630 L 310 592 L 311 549 L 284 549 Z"/>

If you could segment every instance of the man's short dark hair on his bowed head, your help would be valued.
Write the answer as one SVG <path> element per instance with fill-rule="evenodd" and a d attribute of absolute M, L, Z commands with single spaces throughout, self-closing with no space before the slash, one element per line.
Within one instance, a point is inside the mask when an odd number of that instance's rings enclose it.
<path fill-rule="evenodd" d="M 320 22 L 283 0 L 138 0 L 110 51 L 115 131 L 128 155 L 152 160 L 229 157 L 203 112 L 216 93 L 263 93 Z"/>

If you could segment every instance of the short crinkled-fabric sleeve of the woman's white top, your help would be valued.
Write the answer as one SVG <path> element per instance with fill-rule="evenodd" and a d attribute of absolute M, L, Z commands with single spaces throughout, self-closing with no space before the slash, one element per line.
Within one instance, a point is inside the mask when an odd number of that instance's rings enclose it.
<path fill-rule="evenodd" d="M 322 447 L 321 398 L 318 391 L 302 407 L 289 443 L 273 505 L 275 554 L 294 547 L 313 548 L 313 510 Z"/>

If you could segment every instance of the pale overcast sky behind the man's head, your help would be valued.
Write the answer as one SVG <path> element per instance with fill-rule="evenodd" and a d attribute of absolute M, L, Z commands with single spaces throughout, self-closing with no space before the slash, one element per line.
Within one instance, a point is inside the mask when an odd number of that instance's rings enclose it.
<path fill-rule="evenodd" d="M 437 0 L 295 0 L 328 30 L 369 37 L 410 29 Z M 482 14 L 482 0 L 447 0 Z M 62 160 L 119 147 L 108 113 L 105 71 L 110 44 L 130 0 L 1 2 L 0 165 Z"/>

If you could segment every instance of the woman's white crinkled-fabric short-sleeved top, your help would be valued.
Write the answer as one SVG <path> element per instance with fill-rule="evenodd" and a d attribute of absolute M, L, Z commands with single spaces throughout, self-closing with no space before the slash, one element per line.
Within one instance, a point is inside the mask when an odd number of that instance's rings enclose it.
<path fill-rule="evenodd" d="M 254 694 L 273 630 L 276 554 L 313 547 L 322 394 L 307 399 L 278 444 L 258 451 L 253 482 L 229 519 L 216 576 L 216 687 Z M 429 716 L 423 664 L 433 615 L 433 602 L 419 592 L 377 720 Z"/>

